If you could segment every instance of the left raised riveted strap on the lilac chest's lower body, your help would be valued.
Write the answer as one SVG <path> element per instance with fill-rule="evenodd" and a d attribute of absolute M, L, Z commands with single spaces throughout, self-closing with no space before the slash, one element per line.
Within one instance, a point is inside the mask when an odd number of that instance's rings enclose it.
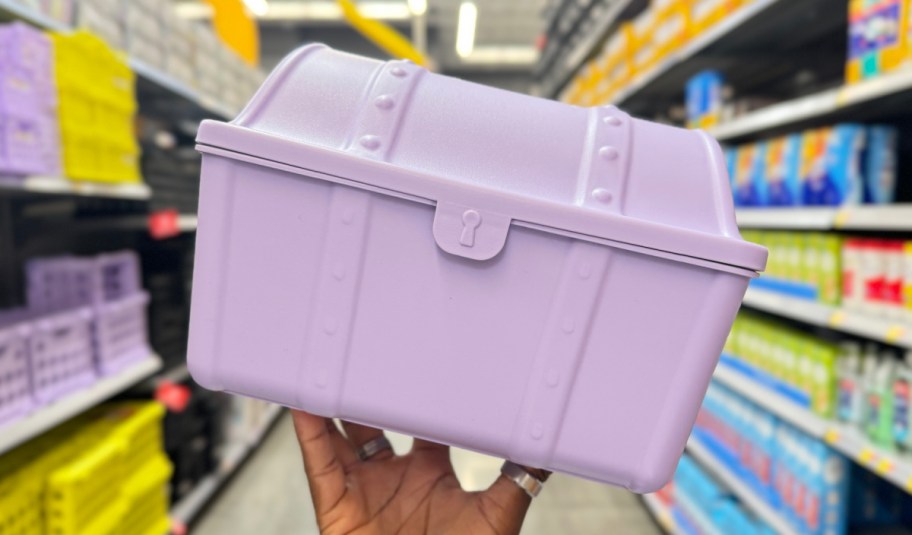
<path fill-rule="evenodd" d="M 348 358 L 351 325 L 357 303 L 370 220 L 368 191 L 335 185 L 326 218 L 326 246 L 320 258 L 316 291 L 310 300 L 310 326 L 298 369 L 300 405 L 333 414 L 338 410 L 342 374 Z M 312 388 L 319 396 L 308 395 Z M 335 397 L 327 397 L 332 392 Z M 324 404 L 315 406 L 315 404 Z"/>

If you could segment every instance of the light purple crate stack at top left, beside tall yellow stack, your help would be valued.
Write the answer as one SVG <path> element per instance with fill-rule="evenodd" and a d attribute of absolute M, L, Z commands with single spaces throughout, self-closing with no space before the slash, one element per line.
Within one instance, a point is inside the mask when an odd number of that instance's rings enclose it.
<path fill-rule="evenodd" d="M 60 173 L 52 65 L 44 34 L 0 27 L 0 175 Z"/>

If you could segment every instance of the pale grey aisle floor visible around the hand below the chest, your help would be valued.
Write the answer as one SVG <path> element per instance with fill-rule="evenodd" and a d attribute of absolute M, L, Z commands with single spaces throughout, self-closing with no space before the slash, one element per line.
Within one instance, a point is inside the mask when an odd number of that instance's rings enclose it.
<path fill-rule="evenodd" d="M 393 437 L 397 451 L 409 439 Z M 463 484 L 486 486 L 500 462 L 454 450 Z M 640 500 L 626 491 L 555 474 L 526 518 L 524 535 L 624 533 L 658 535 Z M 291 418 L 283 416 L 228 488 L 200 519 L 194 535 L 311 535 L 317 533 Z"/>

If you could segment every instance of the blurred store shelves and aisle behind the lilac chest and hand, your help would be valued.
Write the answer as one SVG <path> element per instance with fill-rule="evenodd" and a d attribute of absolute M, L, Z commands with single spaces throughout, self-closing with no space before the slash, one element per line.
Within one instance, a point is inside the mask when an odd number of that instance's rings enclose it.
<path fill-rule="evenodd" d="M 704 129 L 770 249 L 673 481 L 555 475 L 523 533 L 912 532 L 912 0 L 0 0 L 0 21 L 0 535 L 317 533 L 287 414 L 185 361 L 197 128 L 312 42 Z M 497 477 L 452 458 L 468 489 Z"/>

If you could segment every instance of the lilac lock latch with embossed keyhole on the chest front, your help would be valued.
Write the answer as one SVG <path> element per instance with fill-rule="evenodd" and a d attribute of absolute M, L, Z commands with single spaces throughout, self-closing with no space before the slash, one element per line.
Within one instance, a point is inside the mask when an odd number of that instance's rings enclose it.
<path fill-rule="evenodd" d="M 489 260 L 503 249 L 509 231 L 510 218 L 507 216 L 463 204 L 437 203 L 434 239 L 450 254 Z"/>

